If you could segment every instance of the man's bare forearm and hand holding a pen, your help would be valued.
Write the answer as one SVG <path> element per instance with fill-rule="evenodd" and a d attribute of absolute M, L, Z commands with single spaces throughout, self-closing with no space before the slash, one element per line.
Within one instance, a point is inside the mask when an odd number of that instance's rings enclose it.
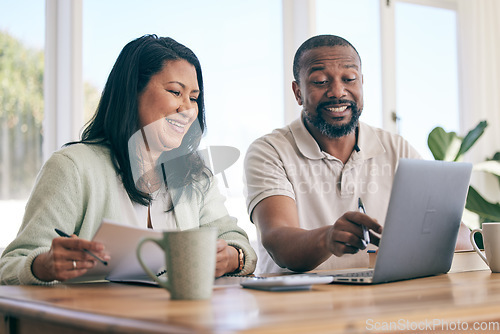
<path fill-rule="evenodd" d="M 332 254 L 342 256 L 363 249 L 361 225 L 370 232 L 371 243 L 378 245 L 382 226 L 370 216 L 347 212 L 335 224 L 312 230 L 300 228 L 295 201 L 287 196 L 263 199 L 252 214 L 258 225 L 262 244 L 277 265 L 293 271 L 309 271 Z"/>

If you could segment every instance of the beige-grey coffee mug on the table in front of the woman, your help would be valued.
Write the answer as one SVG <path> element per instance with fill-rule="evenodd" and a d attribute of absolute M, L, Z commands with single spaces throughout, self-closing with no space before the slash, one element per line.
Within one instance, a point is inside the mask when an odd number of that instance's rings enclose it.
<path fill-rule="evenodd" d="M 160 279 L 141 259 L 141 248 L 156 243 L 165 253 L 167 279 Z M 172 299 L 208 299 L 212 296 L 217 229 L 199 228 L 165 231 L 162 239 L 144 238 L 137 245 L 137 259 L 144 271 L 161 287 L 170 291 Z"/>

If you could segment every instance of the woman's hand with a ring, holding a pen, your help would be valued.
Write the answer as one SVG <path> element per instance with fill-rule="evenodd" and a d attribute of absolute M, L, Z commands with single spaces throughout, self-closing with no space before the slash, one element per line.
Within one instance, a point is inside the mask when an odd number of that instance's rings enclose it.
<path fill-rule="evenodd" d="M 42 281 L 66 281 L 81 276 L 96 265 L 97 260 L 84 252 L 87 249 L 104 261 L 109 255 L 104 245 L 72 235 L 71 238 L 54 238 L 47 253 L 38 255 L 33 261 L 32 272 Z"/>

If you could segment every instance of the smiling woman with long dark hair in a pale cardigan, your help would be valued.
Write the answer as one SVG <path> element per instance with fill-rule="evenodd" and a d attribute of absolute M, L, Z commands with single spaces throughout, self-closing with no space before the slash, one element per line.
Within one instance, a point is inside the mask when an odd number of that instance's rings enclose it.
<path fill-rule="evenodd" d="M 18 236 L 0 260 L 0 282 L 81 276 L 96 264 L 83 249 L 109 260 L 104 245 L 89 241 L 103 218 L 160 230 L 217 227 L 215 275 L 253 272 L 255 252 L 196 152 L 203 98 L 190 49 L 155 35 L 128 43 L 82 140 L 40 171 Z M 73 235 L 55 237 L 55 228 Z"/>

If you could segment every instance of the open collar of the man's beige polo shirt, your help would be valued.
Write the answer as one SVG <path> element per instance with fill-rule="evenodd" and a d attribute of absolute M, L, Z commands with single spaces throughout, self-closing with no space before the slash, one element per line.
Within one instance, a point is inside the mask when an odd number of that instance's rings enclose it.
<path fill-rule="evenodd" d="M 297 148 L 306 158 L 318 160 L 330 156 L 328 153 L 321 150 L 314 137 L 304 125 L 302 117 L 290 123 L 290 131 L 295 139 Z M 360 151 L 354 152 L 351 156 L 354 160 L 366 160 L 385 153 L 384 146 L 377 133 L 371 126 L 363 122 L 359 122 L 358 147 Z"/>

